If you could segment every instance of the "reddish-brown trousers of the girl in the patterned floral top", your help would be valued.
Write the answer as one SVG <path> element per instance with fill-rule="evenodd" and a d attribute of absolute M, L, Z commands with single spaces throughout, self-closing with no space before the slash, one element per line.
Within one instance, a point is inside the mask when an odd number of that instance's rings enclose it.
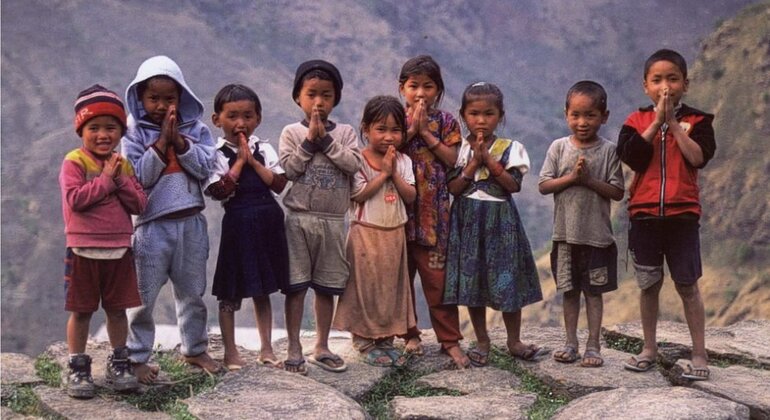
<path fill-rule="evenodd" d="M 444 350 L 460 345 L 463 339 L 460 333 L 460 315 L 457 305 L 444 305 L 444 276 L 446 274 L 446 255 L 441 255 L 433 248 L 414 243 L 407 244 L 409 254 L 409 278 L 412 287 L 412 304 L 415 302 L 414 276 L 420 273 L 422 291 L 428 302 L 430 323 L 436 333 L 438 342 Z M 417 311 L 415 309 L 415 317 Z M 420 330 L 415 326 L 410 328 L 401 338 L 408 340 L 419 337 Z"/>

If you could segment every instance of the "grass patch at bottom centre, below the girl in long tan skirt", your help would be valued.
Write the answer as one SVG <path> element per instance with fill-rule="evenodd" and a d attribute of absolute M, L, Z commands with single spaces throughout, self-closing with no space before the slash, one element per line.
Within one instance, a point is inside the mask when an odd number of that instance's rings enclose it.
<path fill-rule="evenodd" d="M 431 372 L 423 372 L 409 369 L 394 370 L 386 375 L 364 397 L 361 405 L 374 419 L 388 418 L 388 403 L 397 397 L 435 397 L 440 395 L 460 396 L 457 391 L 431 389 L 417 386 L 417 379 Z"/>

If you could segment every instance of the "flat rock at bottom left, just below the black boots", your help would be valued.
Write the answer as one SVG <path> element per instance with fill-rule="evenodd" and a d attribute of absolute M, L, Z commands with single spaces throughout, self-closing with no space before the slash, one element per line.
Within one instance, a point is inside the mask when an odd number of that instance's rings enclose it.
<path fill-rule="evenodd" d="M 96 397 L 90 400 L 71 398 L 61 388 L 44 385 L 35 387 L 44 412 L 66 419 L 110 419 L 110 420 L 162 420 L 170 419 L 160 412 L 141 411 L 127 403 Z"/>

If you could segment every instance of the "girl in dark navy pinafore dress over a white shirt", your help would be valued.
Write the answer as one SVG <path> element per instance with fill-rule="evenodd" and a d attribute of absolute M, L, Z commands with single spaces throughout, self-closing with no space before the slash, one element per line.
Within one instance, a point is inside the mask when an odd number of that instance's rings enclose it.
<path fill-rule="evenodd" d="M 270 143 L 252 136 L 262 121 L 262 105 L 253 90 L 243 85 L 223 87 L 214 98 L 211 120 L 224 134 L 217 141 L 217 160 L 205 192 L 222 200 L 225 208 L 212 288 L 219 300 L 225 366 L 238 370 L 244 364 L 235 346 L 235 311 L 241 308 L 241 299 L 252 298 L 259 360 L 283 368 L 273 353 L 270 294 L 289 281 L 283 210 L 272 194 L 283 191 L 286 177 Z"/>

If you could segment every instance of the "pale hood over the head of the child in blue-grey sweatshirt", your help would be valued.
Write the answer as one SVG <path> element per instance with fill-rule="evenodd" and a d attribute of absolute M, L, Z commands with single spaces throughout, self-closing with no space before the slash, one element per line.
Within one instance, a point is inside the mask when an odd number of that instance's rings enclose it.
<path fill-rule="evenodd" d="M 142 117 L 147 114 L 137 95 L 136 87 L 140 82 L 154 76 L 168 76 L 182 86 L 182 95 L 179 97 L 179 109 L 177 110 L 182 124 L 201 119 L 203 116 L 203 103 L 187 86 L 182 70 L 174 60 L 165 55 L 157 55 L 148 58 L 139 66 L 139 70 L 136 71 L 136 77 L 134 77 L 134 80 L 126 89 L 126 106 L 135 121 L 146 121 L 142 120 Z"/>

